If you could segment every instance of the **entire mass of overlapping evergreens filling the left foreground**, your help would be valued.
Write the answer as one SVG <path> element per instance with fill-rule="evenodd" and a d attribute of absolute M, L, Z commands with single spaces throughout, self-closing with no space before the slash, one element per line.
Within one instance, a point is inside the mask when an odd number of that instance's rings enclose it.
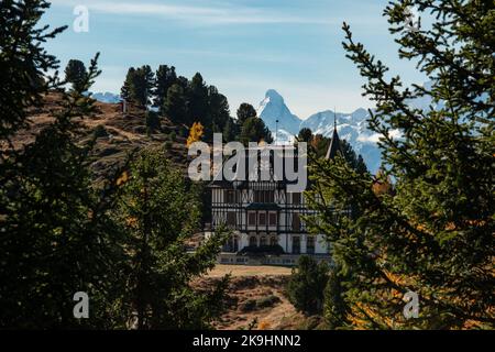
<path fill-rule="evenodd" d="M 218 234 L 186 253 L 199 215 L 196 186 L 151 151 L 101 188 L 92 184 L 91 152 L 105 130 L 88 139 L 79 121 L 96 111 L 84 92 L 100 73 L 98 55 L 73 90 L 59 90 L 62 109 L 34 142 L 6 143 L 24 124 L 25 109 L 62 86 L 42 77 L 56 64 L 37 46 L 51 35 L 32 30 L 46 8 L 45 1 L 0 3 L 7 29 L 0 69 L 12 78 L 10 90 L 0 90 L 0 328 L 208 328 L 227 280 L 208 292 L 189 284 L 213 265 L 224 239 Z M 32 52 L 3 45 L 15 41 Z M 73 315 L 77 292 L 89 296 L 89 319 Z"/>

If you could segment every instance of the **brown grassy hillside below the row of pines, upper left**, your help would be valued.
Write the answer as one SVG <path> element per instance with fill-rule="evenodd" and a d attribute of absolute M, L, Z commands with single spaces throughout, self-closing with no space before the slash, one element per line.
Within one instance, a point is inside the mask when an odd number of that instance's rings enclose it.
<path fill-rule="evenodd" d="M 146 146 L 162 147 L 166 151 L 168 161 L 179 169 L 186 170 L 186 139 L 180 135 L 180 129 L 161 117 L 161 128 L 146 130 L 145 112 L 131 109 L 122 113 L 119 105 L 95 102 L 97 113 L 80 121 L 80 142 L 87 142 L 97 133 L 98 139 L 92 153 L 95 179 L 99 183 L 112 166 L 123 163 L 132 151 Z M 30 111 L 30 128 L 16 134 L 12 141 L 15 148 L 22 148 L 32 143 L 40 131 L 53 121 L 53 112 L 62 109 L 58 94 L 45 97 L 42 108 Z"/>

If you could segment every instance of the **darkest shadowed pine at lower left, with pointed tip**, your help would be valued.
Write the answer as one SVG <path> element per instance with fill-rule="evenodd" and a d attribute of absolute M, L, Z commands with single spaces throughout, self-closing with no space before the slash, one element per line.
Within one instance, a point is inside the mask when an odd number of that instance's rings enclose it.
<path fill-rule="evenodd" d="M 95 58 L 64 109 L 32 144 L 2 162 L 0 191 L 0 326 L 110 328 L 122 323 L 119 233 L 107 216 L 110 200 L 91 185 L 94 141 L 77 142 L 76 118 L 94 112 L 82 95 L 99 75 Z M 107 193 L 103 193 L 107 195 Z M 91 319 L 75 319 L 73 297 L 88 294 Z"/>

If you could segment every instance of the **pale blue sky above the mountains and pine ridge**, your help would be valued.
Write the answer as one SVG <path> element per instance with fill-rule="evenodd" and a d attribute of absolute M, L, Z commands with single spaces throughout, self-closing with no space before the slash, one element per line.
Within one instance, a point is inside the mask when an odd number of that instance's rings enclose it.
<path fill-rule="evenodd" d="M 94 91 L 119 92 L 130 66 L 173 65 L 191 77 L 200 72 L 229 98 L 257 107 L 276 89 L 301 119 L 333 109 L 351 112 L 372 103 L 363 79 L 345 58 L 343 21 L 355 40 L 406 82 L 422 82 L 414 64 L 397 58 L 382 16 L 387 0 L 53 0 L 43 21 L 69 29 L 46 46 L 64 67 L 101 52 Z M 89 32 L 76 33 L 76 6 L 89 10 Z"/>

